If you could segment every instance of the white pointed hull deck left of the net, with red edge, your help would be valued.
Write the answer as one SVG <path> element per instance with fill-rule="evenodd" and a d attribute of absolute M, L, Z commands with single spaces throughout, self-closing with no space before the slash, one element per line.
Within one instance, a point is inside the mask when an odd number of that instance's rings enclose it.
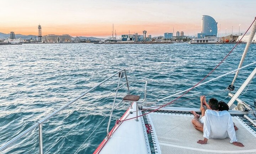
<path fill-rule="evenodd" d="M 136 111 L 135 103 L 129 111 Z M 128 112 L 129 113 L 129 112 Z M 139 112 L 141 115 L 141 112 Z M 129 114 L 127 118 L 136 116 L 136 112 Z M 134 119 L 124 121 L 112 137 L 108 140 L 105 146 L 100 151 L 100 154 L 147 154 L 149 145 L 146 144 L 144 121 L 139 118 L 139 121 Z"/>

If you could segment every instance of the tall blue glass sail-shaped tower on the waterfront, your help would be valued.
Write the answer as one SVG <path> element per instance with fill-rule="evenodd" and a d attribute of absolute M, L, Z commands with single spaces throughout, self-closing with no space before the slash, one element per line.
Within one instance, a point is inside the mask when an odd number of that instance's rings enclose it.
<path fill-rule="evenodd" d="M 206 35 L 215 35 L 217 36 L 217 22 L 211 17 L 207 15 L 202 16 L 202 33 Z"/>

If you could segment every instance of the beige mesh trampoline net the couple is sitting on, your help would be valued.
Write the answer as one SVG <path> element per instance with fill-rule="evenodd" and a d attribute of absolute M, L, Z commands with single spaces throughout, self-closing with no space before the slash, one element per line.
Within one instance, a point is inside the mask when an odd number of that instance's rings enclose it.
<path fill-rule="evenodd" d="M 238 116 L 232 120 L 239 128 L 236 131 L 238 142 L 245 147 L 237 147 L 230 143 L 230 139 L 209 139 L 207 144 L 198 144 L 203 139 L 203 133 L 196 130 L 190 114 L 150 113 L 149 118 L 155 129 L 162 154 L 169 153 L 256 153 L 256 132 Z"/>

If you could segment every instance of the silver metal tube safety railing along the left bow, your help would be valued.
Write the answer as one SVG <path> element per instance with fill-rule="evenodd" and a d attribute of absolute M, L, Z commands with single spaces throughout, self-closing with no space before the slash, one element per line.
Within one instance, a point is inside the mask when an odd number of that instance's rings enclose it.
<path fill-rule="evenodd" d="M 110 78 L 114 77 L 115 75 L 119 74 L 119 81 L 118 81 L 118 86 L 115 89 L 116 90 L 116 94 L 114 97 L 114 102 L 113 102 L 113 106 L 112 106 L 112 110 L 111 110 L 111 116 L 112 113 L 114 111 L 115 108 L 117 108 L 117 106 L 122 102 L 118 103 L 115 106 L 115 101 L 117 98 L 117 92 L 119 90 L 119 88 L 121 88 L 124 85 L 127 85 L 127 89 L 128 89 L 128 93 L 130 93 L 129 90 L 129 82 L 127 79 L 127 74 L 126 74 L 126 70 L 123 69 L 121 71 L 118 71 L 117 73 L 114 73 L 112 76 L 108 77 L 107 79 L 105 79 L 104 81 L 100 82 L 99 84 L 97 84 L 96 86 L 94 86 L 93 88 L 89 89 L 88 91 L 86 91 L 85 93 L 82 93 L 80 96 L 78 96 L 77 98 L 75 98 L 74 100 L 70 101 L 69 103 L 65 104 L 64 106 L 62 106 L 61 108 L 59 108 L 58 110 L 54 111 L 53 113 L 49 114 L 48 116 L 46 116 L 45 118 L 39 120 L 38 122 L 34 123 L 31 127 L 29 127 L 28 129 L 26 129 L 24 132 L 20 133 L 19 135 L 17 135 L 16 137 L 14 137 L 13 139 L 9 140 L 7 143 L 5 143 L 4 145 L 2 145 L 0 147 L 0 152 L 5 150 L 7 147 L 9 147 L 10 145 L 12 145 L 16 140 L 18 140 L 19 138 L 23 137 L 24 135 L 26 135 L 27 133 L 31 132 L 31 130 L 33 130 L 34 128 L 38 127 L 39 129 L 39 153 L 43 154 L 43 123 L 48 120 L 49 118 L 51 118 L 52 116 L 56 115 L 57 113 L 59 113 L 60 111 L 62 111 L 64 108 L 66 108 L 67 106 L 71 105 L 72 103 L 74 103 L 75 101 L 79 100 L 80 98 L 82 98 L 83 96 L 85 96 L 86 94 L 90 93 L 91 91 L 93 91 L 95 88 L 97 88 L 98 86 L 102 85 L 103 83 L 105 83 L 106 81 L 108 81 Z M 125 79 L 126 79 L 126 83 L 124 83 L 123 85 L 120 86 L 120 81 L 121 78 L 125 75 Z M 145 91 L 146 94 L 146 91 Z M 146 97 L 145 97 L 146 98 Z M 109 121 L 111 120 L 111 116 L 109 118 Z"/>

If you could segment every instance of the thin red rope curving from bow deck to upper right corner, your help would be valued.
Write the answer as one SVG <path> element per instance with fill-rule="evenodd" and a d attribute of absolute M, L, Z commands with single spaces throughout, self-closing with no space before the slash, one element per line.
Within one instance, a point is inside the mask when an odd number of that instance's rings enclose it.
<path fill-rule="evenodd" d="M 254 18 L 252 24 L 254 23 L 255 20 L 256 20 L 256 17 Z M 251 24 L 251 26 L 252 26 L 252 24 Z M 247 31 L 245 32 L 245 34 L 249 31 L 249 29 L 251 28 L 251 26 L 247 29 Z M 242 38 L 245 36 L 245 34 L 242 36 Z M 142 115 L 140 115 L 140 116 L 136 116 L 136 117 L 133 117 L 133 118 L 124 119 L 124 120 L 121 120 L 121 122 L 122 122 L 122 121 L 131 120 L 131 119 L 134 119 L 134 118 L 138 118 L 138 117 L 147 115 L 147 114 L 149 114 L 149 113 L 152 113 L 152 112 L 154 112 L 154 111 L 157 111 L 157 110 L 159 110 L 160 108 L 163 108 L 163 107 L 165 107 L 165 106 L 167 106 L 167 105 L 173 103 L 173 102 L 176 101 L 177 99 L 179 99 L 179 98 L 181 98 L 182 96 L 184 96 L 185 94 L 187 94 L 189 91 L 191 91 L 192 89 L 194 89 L 197 85 L 199 85 L 202 81 L 204 81 L 205 78 L 207 78 L 213 71 L 215 71 L 217 67 L 220 66 L 220 64 L 227 58 L 227 56 L 229 56 L 230 53 L 232 53 L 232 51 L 235 49 L 235 47 L 237 46 L 237 44 L 242 40 L 242 38 L 236 43 L 236 45 L 232 48 L 232 50 L 222 59 L 222 61 L 221 61 L 215 68 L 213 68 L 212 71 L 210 71 L 210 73 L 208 73 L 201 81 L 199 81 L 197 84 L 195 84 L 195 86 L 193 86 L 191 89 L 187 90 L 187 91 L 186 91 L 185 93 L 183 93 L 181 96 L 175 98 L 173 101 L 171 101 L 171 102 L 169 102 L 169 103 L 167 103 L 167 104 L 164 104 L 164 105 L 160 106 L 159 108 L 156 108 L 156 109 L 154 109 L 154 110 L 152 110 L 152 111 L 149 111 L 148 113 L 144 113 L 144 114 L 142 114 Z"/>

